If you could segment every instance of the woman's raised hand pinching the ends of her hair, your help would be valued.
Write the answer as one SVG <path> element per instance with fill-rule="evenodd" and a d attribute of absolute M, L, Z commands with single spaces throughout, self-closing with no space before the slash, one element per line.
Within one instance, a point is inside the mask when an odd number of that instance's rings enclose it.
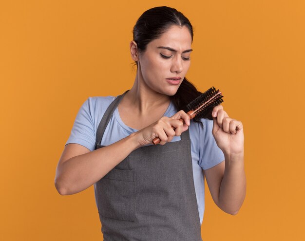
<path fill-rule="evenodd" d="M 215 112 L 215 115 L 214 115 Z M 217 146 L 225 154 L 244 153 L 244 131 L 241 121 L 229 117 L 222 105 L 215 106 L 212 111 L 212 134 Z"/>

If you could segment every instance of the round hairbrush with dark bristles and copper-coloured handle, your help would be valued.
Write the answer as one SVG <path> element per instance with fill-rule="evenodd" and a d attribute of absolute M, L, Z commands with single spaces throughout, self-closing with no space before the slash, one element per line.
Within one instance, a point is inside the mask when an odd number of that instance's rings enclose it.
<path fill-rule="evenodd" d="M 187 106 L 187 114 L 190 116 L 190 120 L 195 118 L 206 118 L 212 120 L 213 117 L 211 115 L 211 111 L 213 108 L 217 105 L 220 105 L 223 103 L 224 96 L 222 93 L 215 89 L 215 87 L 211 87 L 206 92 L 200 94 L 197 98 L 195 98 L 193 101 L 191 101 Z M 180 119 L 182 123 L 184 123 L 184 119 Z M 174 129 L 174 127 L 172 127 Z M 156 145 L 160 142 L 159 137 L 156 137 L 152 140 L 152 144 Z"/>

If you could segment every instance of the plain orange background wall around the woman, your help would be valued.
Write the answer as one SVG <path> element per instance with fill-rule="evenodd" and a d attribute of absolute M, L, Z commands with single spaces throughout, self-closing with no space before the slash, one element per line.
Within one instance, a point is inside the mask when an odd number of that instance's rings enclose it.
<path fill-rule="evenodd" d="M 133 25 L 160 5 L 194 26 L 187 77 L 244 125 L 246 200 L 231 216 L 207 190 L 203 239 L 305 240 L 302 0 L 1 1 L 0 240 L 102 240 L 93 187 L 60 196 L 55 170 L 81 104 L 132 87 Z"/>

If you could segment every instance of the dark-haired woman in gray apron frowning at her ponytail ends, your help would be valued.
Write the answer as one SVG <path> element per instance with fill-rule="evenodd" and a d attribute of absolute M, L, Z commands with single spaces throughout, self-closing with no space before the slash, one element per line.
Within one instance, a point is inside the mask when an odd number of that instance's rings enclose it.
<path fill-rule="evenodd" d="M 200 94 L 185 78 L 192 38 L 176 9 L 147 10 L 133 28 L 131 90 L 89 98 L 77 114 L 55 185 L 61 195 L 95 185 L 104 240 L 201 240 L 204 176 L 225 212 L 244 201 L 242 123 L 221 105 L 213 120 L 179 111 Z"/>

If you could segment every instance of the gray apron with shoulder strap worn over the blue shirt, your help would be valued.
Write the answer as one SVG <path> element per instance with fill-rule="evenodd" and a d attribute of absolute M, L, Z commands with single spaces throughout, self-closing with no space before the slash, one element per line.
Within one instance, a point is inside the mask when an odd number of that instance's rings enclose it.
<path fill-rule="evenodd" d="M 99 123 L 95 149 L 125 93 Z M 95 183 L 95 201 L 104 241 L 202 241 L 189 130 L 181 141 L 132 151 Z"/>

